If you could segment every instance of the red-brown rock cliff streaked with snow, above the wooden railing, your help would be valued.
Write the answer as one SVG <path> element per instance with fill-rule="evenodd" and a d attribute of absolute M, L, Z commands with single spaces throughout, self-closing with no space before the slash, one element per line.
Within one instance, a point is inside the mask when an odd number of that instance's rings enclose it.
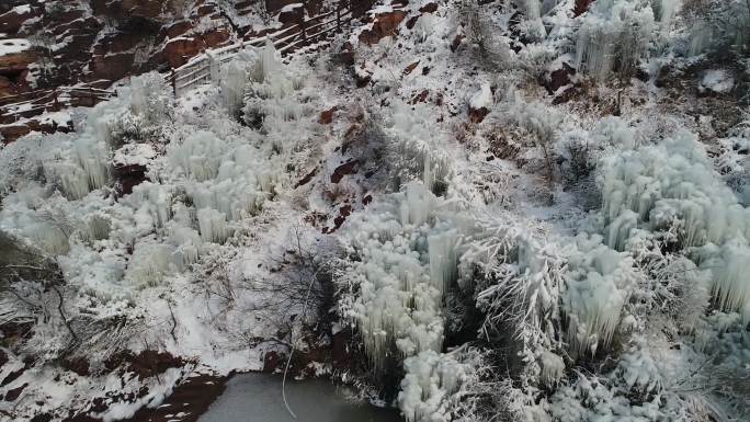
<path fill-rule="evenodd" d="M 107 85 L 129 75 L 180 66 L 263 24 L 264 9 L 258 2 L 223 3 L 5 0 L 0 4 L 0 45 L 27 39 L 31 47 L 18 53 L 0 48 L 0 98 L 78 82 Z M 284 4 L 272 0 L 269 7 Z"/>

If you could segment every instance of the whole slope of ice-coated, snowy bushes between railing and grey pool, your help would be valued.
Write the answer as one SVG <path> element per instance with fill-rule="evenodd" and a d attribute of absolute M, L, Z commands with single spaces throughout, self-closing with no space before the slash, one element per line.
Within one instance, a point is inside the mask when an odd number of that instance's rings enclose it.
<path fill-rule="evenodd" d="M 82 409 L 123 350 L 296 351 L 409 422 L 750 417 L 750 9 L 482 3 L 178 99 L 144 75 L 0 150 L 2 300 L 35 324 L 2 346 L 38 360 L 10 386 Z M 88 384 L 42 383 L 71 357 Z"/>

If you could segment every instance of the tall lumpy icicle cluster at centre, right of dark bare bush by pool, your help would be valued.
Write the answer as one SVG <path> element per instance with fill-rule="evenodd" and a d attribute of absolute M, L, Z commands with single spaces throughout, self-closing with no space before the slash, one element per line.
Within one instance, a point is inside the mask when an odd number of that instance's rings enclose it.
<path fill-rule="evenodd" d="M 443 343 L 443 293 L 457 273 L 458 237 L 450 221 L 436 219 L 440 206 L 421 183 L 407 185 L 387 205 L 352 221 L 351 263 L 359 288 L 350 317 L 376 367 L 395 345 L 402 356 L 440 352 Z"/>

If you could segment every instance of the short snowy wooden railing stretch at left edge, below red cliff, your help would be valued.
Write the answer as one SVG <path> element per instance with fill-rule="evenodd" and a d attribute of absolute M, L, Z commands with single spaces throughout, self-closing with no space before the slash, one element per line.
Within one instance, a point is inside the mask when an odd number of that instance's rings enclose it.
<path fill-rule="evenodd" d="M 114 91 L 90 85 L 57 87 L 0 98 L 0 124 L 9 124 L 45 112 L 71 106 L 93 106 L 114 96 Z"/>

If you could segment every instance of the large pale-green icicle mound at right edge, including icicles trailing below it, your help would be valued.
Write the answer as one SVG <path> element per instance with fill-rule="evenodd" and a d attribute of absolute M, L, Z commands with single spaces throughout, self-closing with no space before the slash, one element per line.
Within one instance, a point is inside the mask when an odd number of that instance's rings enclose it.
<path fill-rule="evenodd" d="M 682 248 L 702 247 L 696 261 L 713 273 L 715 304 L 750 313 L 750 282 L 739 262 L 747 258 L 750 210 L 721 182 L 695 136 L 638 151 L 604 164 L 602 223 L 606 241 L 625 250 L 636 230 L 677 230 Z"/>

